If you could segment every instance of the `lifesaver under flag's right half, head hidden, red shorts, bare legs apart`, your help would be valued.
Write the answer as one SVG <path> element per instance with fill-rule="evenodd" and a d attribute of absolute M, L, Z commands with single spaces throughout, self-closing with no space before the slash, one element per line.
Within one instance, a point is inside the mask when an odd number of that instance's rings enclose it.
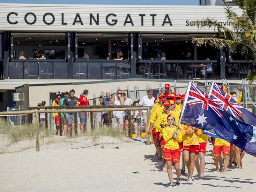
<path fill-rule="evenodd" d="M 221 156 L 221 151 L 223 152 L 223 156 L 224 156 L 223 172 L 226 173 L 228 168 L 229 154 L 230 154 L 230 143 L 225 141 L 224 139 L 216 138 L 213 146 L 213 156 L 214 156 L 214 163 L 215 163 L 217 172 L 220 172 L 219 156 Z"/>

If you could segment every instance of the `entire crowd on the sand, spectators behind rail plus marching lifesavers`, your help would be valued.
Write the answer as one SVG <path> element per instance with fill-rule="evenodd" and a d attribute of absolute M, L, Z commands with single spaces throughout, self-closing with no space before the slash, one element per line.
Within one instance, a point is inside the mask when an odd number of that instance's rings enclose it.
<path fill-rule="evenodd" d="M 225 92 L 226 87 L 222 86 Z M 52 106 L 87 106 L 89 101 L 87 96 L 89 91 L 85 89 L 80 97 L 74 96 L 75 91 L 71 89 L 69 92 L 56 93 L 56 99 L 52 102 Z M 153 91 L 148 90 L 147 95 L 141 100 L 133 102 L 126 96 L 121 89 L 117 90 L 115 96 L 111 97 L 110 92 L 106 92 L 106 97 L 99 98 L 99 105 L 133 105 L 152 107 L 150 115 L 147 110 L 134 111 L 102 111 L 95 113 L 96 121 L 100 129 L 112 126 L 118 129 L 121 133 L 126 130 L 128 133 L 128 119 L 132 119 L 135 137 L 141 138 L 141 125 L 145 126 L 145 131 L 153 138 L 156 147 L 155 155 L 160 161 L 160 166 L 163 171 L 167 171 L 170 180 L 169 186 L 174 186 L 172 166 L 176 170 L 177 178 L 176 185 L 180 185 L 180 175 L 187 174 L 187 182 L 193 183 L 193 171 L 197 169 L 197 177 L 204 177 L 205 153 L 207 142 L 213 144 L 214 163 L 217 172 L 227 172 L 227 167 L 238 166 L 242 168 L 242 159 L 245 155 L 236 146 L 221 139 L 209 137 L 202 133 L 201 129 L 196 127 L 178 124 L 178 119 L 182 111 L 182 105 L 185 95 L 175 94 L 172 92 L 170 85 L 165 84 L 165 92 L 160 93 L 156 98 L 153 97 Z M 230 95 L 230 94 L 229 94 Z M 231 96 L 231 95 L 230 95 Z M 232 96 L 237 102 L 241 101 L 242 93 Z M 43 101 L 39 106 L 44 106 Z M 150 119 L 148 120 L 148 117 Z M 53 113 L 53 118 L 56 124 L 56 135 L 71 136 L 75 134 L 74 129 L 74 113 L 61 113 L 59 118 L 58 113 Z M 79 112 L 76 119 L 80 124 L 82 135 L 86 134 L 86 124 L 89 118 L 89 113 Z M 45 114 L 41 113 L 40 120 L 45 120 Z M 149 123 L 148 123 L 149 122 Z M 180 157 L 182 166 L 180 168 Z M 187 168 L 187 173 L 186 173 Z"/>

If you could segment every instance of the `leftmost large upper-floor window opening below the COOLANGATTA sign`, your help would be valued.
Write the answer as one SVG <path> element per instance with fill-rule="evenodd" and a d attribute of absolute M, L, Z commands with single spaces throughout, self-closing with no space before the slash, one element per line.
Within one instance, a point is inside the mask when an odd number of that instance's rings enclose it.
<path fill-rule="evenodd" d="M 13 59 L 65 59 L 65 33 L 13 32 Z"/>

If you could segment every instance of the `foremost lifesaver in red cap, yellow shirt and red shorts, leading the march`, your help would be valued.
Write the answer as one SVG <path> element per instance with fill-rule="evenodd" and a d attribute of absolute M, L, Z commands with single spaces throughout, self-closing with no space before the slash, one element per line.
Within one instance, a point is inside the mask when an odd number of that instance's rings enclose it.
<path fill-rule="evenodd" d="M 169 186 L 174 186 L 173 184 L 173 172 L 172 172 L 172 162 L 174 163 L 174 168 L 176 170 L 176 185 L 180 185 L 180 145 L 179 142 L 182 141 L 182 133 L 180 129 L 174 126 L 174 115 L 169 114 L 167 116 L 168 126 L 163 128 L 163 139 L 165 140 L 165 145 L 163 149 L 163 155 L 167 164 L 167 173 L 170 180 Z"/>

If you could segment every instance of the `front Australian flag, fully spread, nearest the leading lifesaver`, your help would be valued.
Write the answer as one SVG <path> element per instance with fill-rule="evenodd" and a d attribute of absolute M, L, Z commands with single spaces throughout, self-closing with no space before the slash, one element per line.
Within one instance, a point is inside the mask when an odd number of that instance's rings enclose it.
<path fill-rule="evenodd" d="M 253 135 L 252 125 L 235 118 L 193 83 L 187 87 L 180 123 L 218 135 L 242 151 Z"/>

